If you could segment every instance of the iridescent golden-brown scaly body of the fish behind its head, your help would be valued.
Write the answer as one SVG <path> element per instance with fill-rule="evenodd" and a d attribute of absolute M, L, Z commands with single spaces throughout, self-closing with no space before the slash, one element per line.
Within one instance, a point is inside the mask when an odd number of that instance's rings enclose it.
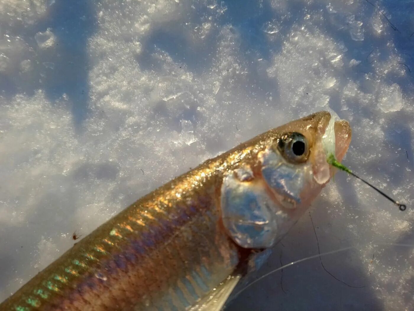
<path fill-rule="evenodd" d="M 173 194 L 177 187 L 188 190 L 190 179 L 197 180 L 198 193 L 192 193 L 189 206 L 184 202 L 185 191 Z M 5 301 L 2 310 L 127 310 L 129 306 L 140 310 L 156 306 L 159 293 L 173 283 L 179 292 L 171 301 L 178 310 L 193 304 L 199 297 L 190 291 L 208 292 L 231 273 L 238 255 L 236 245 L 215 226 L 219 210 L 212 197 L 216 178 L 211 170 L 190 173 L 181 180 L 184 186 L 177 181 L 164 186 L 173 187 L 170 195 L 160 198 L 156 191 L 138 200 L 77 242 Z M 157 243 L 164 245 L 160 248 Z M 217 247 L 220 243 L 225 247 Z M 197 270 L 212 275 L 200 277 L 204 289 L 190 276 Z M 193 280 L 190 291 L 182 281 L 187 277 Z"/>

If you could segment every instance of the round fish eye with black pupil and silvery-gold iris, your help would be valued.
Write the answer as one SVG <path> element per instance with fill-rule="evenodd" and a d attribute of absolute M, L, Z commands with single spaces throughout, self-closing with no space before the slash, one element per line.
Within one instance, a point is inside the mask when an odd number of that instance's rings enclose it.
<path fill-rule="evenodd" d="M 298 132 L 283 134 L 277 140 L 277 149 L 291 163 L 303 163 L 309 157 L 308 141 Z"/>

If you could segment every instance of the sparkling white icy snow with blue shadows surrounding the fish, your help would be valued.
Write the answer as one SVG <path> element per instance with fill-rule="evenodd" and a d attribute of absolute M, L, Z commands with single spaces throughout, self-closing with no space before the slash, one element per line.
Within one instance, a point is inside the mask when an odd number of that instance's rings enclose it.
<path fill-rule="evenodd" d="M 388 18 L 389 22 L 387 21 Z M 392 24 L 391 24 L 392 23 Z M 0 0 L 0 301 L 142 195 L 321 109 L 350 121 L 320 252 L 228 310 L 413 310 L 412 0 Z M 258 276 L 318 254 L 306 214 Z M 283 287 L 281 286 L 283 285 Z M 361 288 L 356 288 L 361 287 Z"/>

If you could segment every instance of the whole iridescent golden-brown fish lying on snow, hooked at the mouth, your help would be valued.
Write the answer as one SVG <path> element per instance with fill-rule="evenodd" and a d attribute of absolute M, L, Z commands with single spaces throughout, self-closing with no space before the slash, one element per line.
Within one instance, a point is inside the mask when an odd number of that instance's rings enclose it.
<path fill-rule="evenodd" d="M 335 174 L 351 127 L 317 112 L 176 177 L 0 304 L 13 311 L 221 310 Z"/>

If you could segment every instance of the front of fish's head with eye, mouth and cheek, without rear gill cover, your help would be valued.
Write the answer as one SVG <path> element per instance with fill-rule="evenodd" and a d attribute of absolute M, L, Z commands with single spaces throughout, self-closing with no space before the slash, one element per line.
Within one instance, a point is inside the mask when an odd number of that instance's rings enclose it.
<path fill-rule="evenodd" d="M 341 161 L 351 141 L 351 127 L 318 112 L 274 130 L 258 154 L 260 173 L 277 203 L 288 209 L 307 208 L 334 175 L 327 156 Z"/>

